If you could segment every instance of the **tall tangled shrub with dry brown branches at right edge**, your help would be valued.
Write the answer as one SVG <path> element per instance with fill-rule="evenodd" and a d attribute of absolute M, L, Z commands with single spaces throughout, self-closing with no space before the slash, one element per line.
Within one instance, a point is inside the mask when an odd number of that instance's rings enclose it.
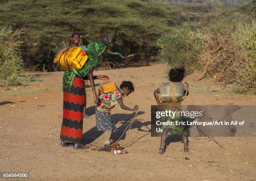
<path fill-rule="evenodd" d="M 223 84 L 233 84 L 236 92 L 256 93 L 256 23 L 249 15 L 216 12 L 205 33 L 200 69 Z M 199 79 L 199 80 L 200 80 Z"/>

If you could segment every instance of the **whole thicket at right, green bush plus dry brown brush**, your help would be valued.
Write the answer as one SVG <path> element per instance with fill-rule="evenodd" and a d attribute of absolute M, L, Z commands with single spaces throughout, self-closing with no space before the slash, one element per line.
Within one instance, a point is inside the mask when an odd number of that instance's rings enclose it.
<path fill-rule="evenodd" d="M 171 66 L 185 66 L 188 74 L 199 70 L 200 79 L 208 76 L 222 84 L 233 84 L 235 92 L 255 94 L 254 14 L 219 6 L 206 19 L 203 27 L 192 22 L 177 33 L 159 38 L 157 58 Z"/>

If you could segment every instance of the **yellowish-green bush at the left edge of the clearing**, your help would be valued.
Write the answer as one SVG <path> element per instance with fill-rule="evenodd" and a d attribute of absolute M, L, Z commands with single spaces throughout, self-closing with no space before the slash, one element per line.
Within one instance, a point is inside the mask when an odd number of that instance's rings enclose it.
<path fill-rule="evenodd" d="M 0 30 L 0 80 L 4 86 L 18 86 L 35 80 L 35 77 L 25 75 L 20 56 L 21 35 L 20 31 L 12 31 L 10 27 Z"/>

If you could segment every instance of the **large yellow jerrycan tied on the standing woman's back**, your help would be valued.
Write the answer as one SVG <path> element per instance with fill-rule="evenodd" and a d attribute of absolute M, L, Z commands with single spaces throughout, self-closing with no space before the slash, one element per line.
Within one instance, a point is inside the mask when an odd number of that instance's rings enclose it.
<path fill-rule="evenodd" d="M 82 55 L 82 48 L 80 47 L 69 47 L 62 48 L 54 59 L 54 63 L 63 70 L 66 71 L 67 68 L 74 68 L 76 70 L 82 69 L 88 56 Z"/>

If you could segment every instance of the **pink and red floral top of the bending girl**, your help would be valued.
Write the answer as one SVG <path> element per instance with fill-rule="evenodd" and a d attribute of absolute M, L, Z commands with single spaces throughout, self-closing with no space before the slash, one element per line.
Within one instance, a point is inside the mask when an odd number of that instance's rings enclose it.
<path fill-rule="evenodd" d="M 122 98 L 122 93 L 120 90 L 116 89 L 113 92 L 109 92 L 108 94 L 100 94 L 99 96 L 99 103 L 97 105 L 97 110 L 100 112 L 105 112 L 107 114 L 110 114 L 110 110 L 115 107 L 115 105 L 118 103 L 117 99 Z"/>

